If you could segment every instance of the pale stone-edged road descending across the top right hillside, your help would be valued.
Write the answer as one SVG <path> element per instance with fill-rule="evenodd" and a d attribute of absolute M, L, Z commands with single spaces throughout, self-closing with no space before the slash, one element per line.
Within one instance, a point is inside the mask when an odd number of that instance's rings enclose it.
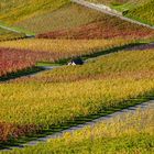
<path fill-rule="evenodd" d="M 122 15 L 121 12 L 118 12 L 117 10 L 113 10 L 113 9 L 111 9 L 111 8 L 109 8 L 105 4 L 92 3 L 92 2 L 88 2 L 86 0 L 72 0 L 72 1 L 75 2 L 75 3 L 78 3 L 80 6 L 87 7 L 89 9 L 94 9 L 94 10 L 100 11 L 100 12 L 109 14 L 109 15 L 118 16 L 121 20 L 125 20 L 125 21 L 129 21 L 129 22 L 132 22 L 132 23 L 135 23 L 135 24 L 146 26 L 146 28 L 150 28 L 150 29 L 154 30 L 154 26 L 151 26 L 148 24 L 141 23 L 139 21 L 125 18 L 125 16 Z"/>

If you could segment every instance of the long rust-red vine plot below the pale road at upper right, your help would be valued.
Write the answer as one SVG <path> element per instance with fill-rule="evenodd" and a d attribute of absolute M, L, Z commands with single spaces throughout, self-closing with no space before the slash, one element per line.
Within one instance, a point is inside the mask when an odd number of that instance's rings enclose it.
<path fill-rule="evenodd" d="M 105 18 L 72 30 L 59 30 L 38 34 L 38 38 L 146 38 L 153 37 L 154 30 L 136 25 L 117 18 Z"/>

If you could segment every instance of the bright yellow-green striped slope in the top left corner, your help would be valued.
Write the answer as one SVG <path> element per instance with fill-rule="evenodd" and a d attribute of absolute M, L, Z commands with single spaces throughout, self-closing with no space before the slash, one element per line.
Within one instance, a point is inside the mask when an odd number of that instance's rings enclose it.
<path fill-rule="evenodd" d="M 12 24 L 43 12 L 54 11 L 68 2 L 69 0 L 1 0 L 0 20 Z"/>

